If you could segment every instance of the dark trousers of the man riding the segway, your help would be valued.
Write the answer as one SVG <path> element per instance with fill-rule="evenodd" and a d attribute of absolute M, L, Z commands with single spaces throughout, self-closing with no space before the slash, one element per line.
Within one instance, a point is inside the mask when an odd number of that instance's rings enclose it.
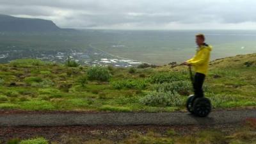
<path fill-rule="evenodd" d="M 193 88 L 196 97 L 204 97 L 203 84 L 204 84 L 205 75 L 196 72 L 194 77 Z"/>

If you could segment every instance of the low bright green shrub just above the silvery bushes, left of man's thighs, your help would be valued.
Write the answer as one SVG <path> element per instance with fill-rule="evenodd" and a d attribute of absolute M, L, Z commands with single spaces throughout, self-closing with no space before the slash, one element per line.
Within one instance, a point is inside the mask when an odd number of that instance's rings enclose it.
<path fill-rule="evenodd" d="M 150 83 L 172 83 L 173 81 L 182 81 L 186 77 L 178 72 L 156 73 L 150 77 Z"/>

